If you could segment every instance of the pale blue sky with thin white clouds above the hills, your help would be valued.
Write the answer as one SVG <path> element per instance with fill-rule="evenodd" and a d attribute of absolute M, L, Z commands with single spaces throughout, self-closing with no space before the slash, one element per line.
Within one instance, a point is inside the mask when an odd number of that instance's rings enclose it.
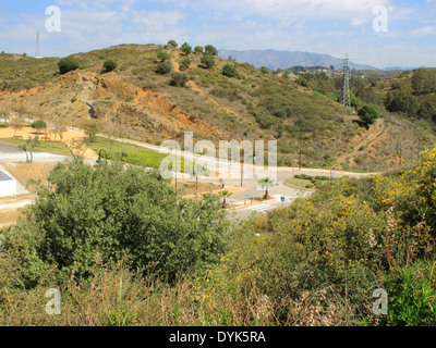
<path fill-rule="evenodd" d="M 46 30 L 46 9 L 61 32 Z M 386 9 L 387 30 L 376 7 Z M 275 49 L 386 66 L 436 66 L 436 0 L 1 0 L 0 51 L 64 57 L 120 44 Z"/>

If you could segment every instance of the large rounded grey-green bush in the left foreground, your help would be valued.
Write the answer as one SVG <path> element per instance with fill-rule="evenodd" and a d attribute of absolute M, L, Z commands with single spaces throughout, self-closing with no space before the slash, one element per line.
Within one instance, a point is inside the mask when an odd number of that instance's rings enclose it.
<path fill-rule="evenodd" d="M 157 172 L 121 164 L 58 163 L 52 189 L 38 198 L 16 226 L 26 232 L 35 257 L 64 275 L 89 278 L 117 263 L 153 268 L 169 282 L 187 270 L 217 262 L 228 232 L 220 200 L 182 199 Z"/>

